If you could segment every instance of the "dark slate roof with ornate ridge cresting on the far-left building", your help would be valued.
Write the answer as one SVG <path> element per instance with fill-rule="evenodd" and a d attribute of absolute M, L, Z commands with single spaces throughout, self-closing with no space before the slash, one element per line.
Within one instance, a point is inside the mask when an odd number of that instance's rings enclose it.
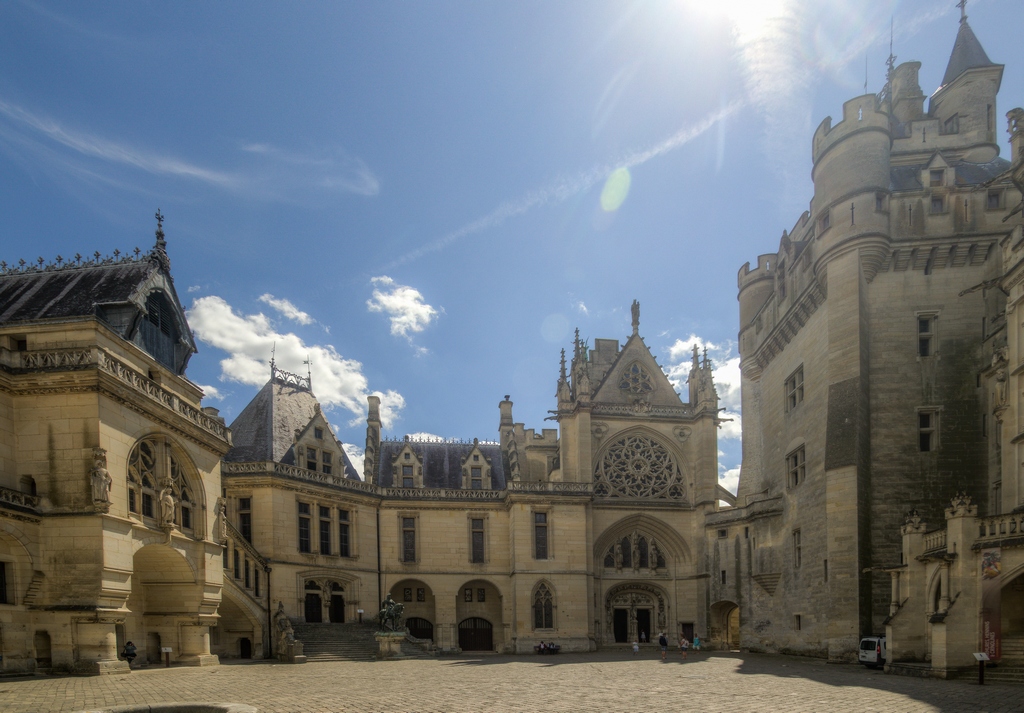
<path fill-rule="evenodd" d="M 88 317 L 129 301 L 159 266 L 146 258 L 0 272 L 0 324 Z"/>

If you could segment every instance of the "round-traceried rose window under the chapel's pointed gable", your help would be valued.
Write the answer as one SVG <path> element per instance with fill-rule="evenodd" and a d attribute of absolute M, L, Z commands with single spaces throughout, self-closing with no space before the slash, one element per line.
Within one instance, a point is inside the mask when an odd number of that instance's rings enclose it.
<path fill-rule="evenodd" d="M 608 498 L 682 498 L 679 466 L 662 444 L 643 435 L 620 438 L 594 475 L 594 493 Z"/>

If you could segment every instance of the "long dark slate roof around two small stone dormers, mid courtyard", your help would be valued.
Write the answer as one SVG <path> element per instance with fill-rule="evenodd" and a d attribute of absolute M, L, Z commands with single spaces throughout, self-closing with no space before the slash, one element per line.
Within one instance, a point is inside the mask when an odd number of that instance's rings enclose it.
<path fill-rule="evenodd" d="M 508 468 L 498 444 L 382 441 L 380 450 L 380 470 L 377 483 L 385 488 L 394 487 L 391 463 L 395 457 L 411 446 L 413 452 L 423 460 L 423 487 L 462 489 L 463 459 L 468 458 L 473 449 L 479 449 L 490 466 L 490 489 L 505 490 Z"/>

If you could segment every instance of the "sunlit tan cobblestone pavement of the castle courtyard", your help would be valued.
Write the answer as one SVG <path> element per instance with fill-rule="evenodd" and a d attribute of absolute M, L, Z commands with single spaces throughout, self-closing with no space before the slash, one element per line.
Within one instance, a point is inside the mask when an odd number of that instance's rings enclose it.
<path fill-rule="evenodd" d="M 0 679 L 0 711 L 180 702 L 260 713 L 341 711 L 1024 711 L 1024 687 L 892 676 L 757 654 L 481 656 L 289 666 L 153 668 L 103 677 Z"/>

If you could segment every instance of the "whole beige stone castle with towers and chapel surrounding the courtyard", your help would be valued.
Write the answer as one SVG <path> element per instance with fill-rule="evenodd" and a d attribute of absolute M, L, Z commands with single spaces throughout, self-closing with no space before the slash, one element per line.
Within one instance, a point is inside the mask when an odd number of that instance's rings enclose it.
<path fill-rule="evenodd" d="M 271 362 L 230 427 L 202 407 L 159 214 L 147 253 L 0 263 L 0 671 L 298 663 L 386 595 L 429 653 L 1024 661 L 1024 111 L 999 158 L 966 16 L 931 97 L 919 68 L 822 122 L 810 210 L 739 271 L 735 497 L 710 361 L 680 395 L 637 303 L 563 352 L 557 428 L 506 396 L 485 437 L 390 439 L 371 396 L 360 477 L 308 375 Z"/>

